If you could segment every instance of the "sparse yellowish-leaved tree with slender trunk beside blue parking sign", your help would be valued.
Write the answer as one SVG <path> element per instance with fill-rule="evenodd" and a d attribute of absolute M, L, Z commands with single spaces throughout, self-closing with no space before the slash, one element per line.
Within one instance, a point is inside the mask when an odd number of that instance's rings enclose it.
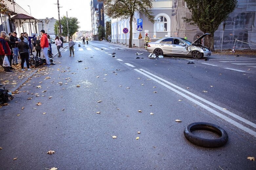
<path fill-rule="evenodd" d="M 128 19 L 130 18 L 130 36 L 129 36 L 129 48 L 132 47 L 132 21 L 135 12 L 144 14 L 148 21 L 154 23 L 154 15 L 151 8 L 152 3 L 150 0 L 101 0 L 104 2 L 104 11 L 109 17 Z"/>

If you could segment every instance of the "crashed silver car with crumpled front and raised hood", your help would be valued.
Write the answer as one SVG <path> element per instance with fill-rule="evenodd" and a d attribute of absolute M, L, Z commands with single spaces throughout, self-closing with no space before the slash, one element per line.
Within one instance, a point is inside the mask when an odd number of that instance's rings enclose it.
<path fill-rule="evenodd" d="M 194 59 L 210 56 L 209 48 L 200 45 L 201 40 L 210 35 L 205 33 L 194 42 L 178 37 L 165 37 L 155 42 L 148 42 L 148 52 L 154 53 L 156 56 L 172 55 L 172 56 L 192 56 Z"/>

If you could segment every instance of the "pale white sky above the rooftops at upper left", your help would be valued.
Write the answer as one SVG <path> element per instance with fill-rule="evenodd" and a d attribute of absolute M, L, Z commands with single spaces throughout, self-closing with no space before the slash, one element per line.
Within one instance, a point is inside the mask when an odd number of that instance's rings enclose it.
<path fill-rule="evenodd" d="M 36 19 L 45 19 L 58 17 L 57 0 L 15 0 L 19 6 L 30 13 Z M 90 12 L 90 0 L 59 0 L 60 4 L 60 17 L 76 17 L 80 22 L 79 30 L 89 31 L 91 30 L 91 12 Z M 28 7 L 28 5 L 30 7 Z M 69 10 L 71 9 L 71 10 Z"/>

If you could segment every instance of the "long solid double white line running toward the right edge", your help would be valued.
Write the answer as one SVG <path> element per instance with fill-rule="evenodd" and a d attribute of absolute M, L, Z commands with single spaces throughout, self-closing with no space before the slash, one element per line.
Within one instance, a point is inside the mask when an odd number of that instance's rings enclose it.
<path fill-rule="evenodd" d="M 145 71 L 145 70 L 143 70 L 143 69 L 140 69 L 141 71 L 138 70 L 138 69 L 134 69 L 134 70 L 137 71 L 137 72 L 139 72 L 140 74 L 142 74 L 142 75 L 144 75 L 144 76 L 147 76 L 148 78 L 150 78 L 150 79 L 152 79 L 152 80 L 158 82 L 159 84 L 161 84 L 161 85 L 167 87 L 168 89 L 172 90 L 173 92 L 180 94 L 181 96 L 187 98 L 188 100 L 194 102 L 195 104 L 201 106 L 202 108 L 204 108 L 204 109 L 206 109 L 206 110 L 212 112 L 213 114 L 219 116 L 220 118 L 226 120 L 227 122 L 229 122 L 229 123 L 235 125 L 236 127 L 240 128 L 240 129 L 242 129 L 242 130 L 244 130 L 244 131 L 248 132 L 249 134 L 251 134 L 251 135 L 253 135 L 253 136 L 256 137 L 256 132 L 255 132 L 255 131 L 253 131 L 253 130 L 249 129 L 248 127 L 245 127 L 244 125 L 242 125 L 242 124 L 240 124 L 240 123 L 238 123 L 238 122 L 236 122 L 236 121 L 230 119 L 229 117 L 227 117 L 227 116 L 221 114 L 220 112 L 211 109 L 210 107 L 208 107 L 208 106 L 204 105 L 203 103 L 201 103 L 201 102 L 199 102 L 199 101 L 197 101 L 197 100 L 195 100 L 195 99 L 189 97 L 188 95 L 186 95 L 186 94 L 184 94 L 184 93 L 181 93 L 180 91 L 178 91 L 178 90 L 176 90 L 176 89 L 174 89 L 174 88 L 168 86 L 167 84 L 170 84 L 171 86 L 174 86 L 174 87 L 176 87 L 177 89 L 179 89 L 179 90 L 181 90 L 181 91 L 183 91 L 183 92 L 185 92 L 185 93 L 190 94 L 191 96 L 193 96 L 193 97 L 195 97 L 195 98 L 197 98 L 197 99 L 199 99 L 199 100 L 201 100 L 201 101 L 203 101 L 203 102 L 205 102 L 205 103 L 207 103 L 207 104 L 209 104 L 209 105 L 215 107 L 216 109 L 219 109 L 219 110 L 221 110 L 221 111 L 223 111 L 223 112 L 225 112 L 225 113 L 227 113 L 227 114 L 229 114 L 229 115 L 235 117 L 236 119 L 238 119 L 238 120 L 240 120 L 240 121 L 243 121 L 244 123 L 246 123 L 246 124 L 248 124 L 248 125 L 250 125 L 250 126 L 252 126 L 252 127 L 256 127 L 256 124 L 254 124 L 254 123 L 252 123 L 252 122 L 250 122 L 250 121 L 248 121 L 248 120 L 246 120 L 246 119 L 244 119 L 244 118 L 242 118 L 242 117 L 240 117 L 240 116 L 238 116 L 238 115 L 236 115 L 236 114 L 234 114 L 234 113 L 232 113 L 232 112 L 230 112 L 230 111 L 228 111 L 228 110 L 224 110 L 222 107 L 217 106 L 217 105 L 215 105 L 215 104 L 213 104 L 213 103 L 207 101 L 206 99 L 201 98 L 201 97 L 199 97 L 199 96 L 197 96 L 197 95 L 195 95 L 195 94 L 193 94 L 193 93 L 190 93 L 190 92 L 188 92 L 187 90 L 182 89 L 181 87 L 176 86 L 176 85 L 174 85 L 174 84 L 168 82 L 167 80 L 164 80 L 164 79 L 162 79 L 162 78 L 160 78 L 160 77 L 158 77 L 158 76 L 155 76 L 155 75 L 153 75 L 153 74 L 151 74 L 151 73 L 149 73 L 149 72 L 147 72 L 147 71 Z M 145 73 L 144 73 L 144 72 L 145 72 Z M 164 82 L 166 82 L 167 84 L 165 84 L 165 83 L 163 83 L 163 82 L 161 82 L 161 81 L 159 81 L 159 80 L 157 80 L 157 79 L 155 79 L 155 78 L 153 78 L 153 77 L 147 75 L 146 73 L 149 74 L 149 75 L 152 75 L 152 76 L 154 76 L 154 77 L 156 77 L 156 78 L 158 78 L 158 79 L 160 79 L 160 80 L 162 80 L 162 81 L 164 81 Z"/>

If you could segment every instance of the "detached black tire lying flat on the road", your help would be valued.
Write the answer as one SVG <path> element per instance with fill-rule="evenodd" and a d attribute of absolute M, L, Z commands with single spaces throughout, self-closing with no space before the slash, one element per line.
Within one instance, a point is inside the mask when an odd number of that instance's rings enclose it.
<path fill-rule="evenodd" d="M 194 130 L 208 130 L 218 134 L 220 138 L 217 138 L 217 139 L 201 138 L 192 133 L 192 131 Z M 211 123 L 205 123 L 205 122 L 191 123 L 185 128 L 184 135 L 189 142 L 196 144 L 198 146 L 208 147 L 208 148 L 223 146 L 224 144 L 226 144 L 228 140 L 228 135 L 223 128 L 217 125 L 214 125 Z"/>

